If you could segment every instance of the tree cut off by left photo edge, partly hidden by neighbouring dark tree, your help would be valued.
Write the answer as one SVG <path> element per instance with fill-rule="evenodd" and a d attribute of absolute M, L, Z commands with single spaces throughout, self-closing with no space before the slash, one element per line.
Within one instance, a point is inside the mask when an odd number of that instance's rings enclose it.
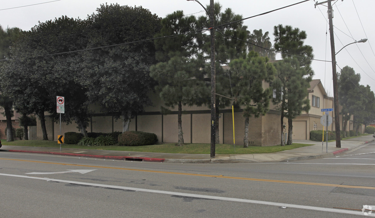
<path fill-rule="evenodd" d="M 24 33 L 17 27 L 3 29 L 0 25 L 0 59 L 9 59 L 10 58 L 10 47 L 14 42 Z M 3 71 L 1 66 L 5 61 L 0 61 L 0 74 Z M 6 76 L 6 75 L 5 75 Z M 4 114 L 6 117 L 6 141 L 14 141 L 12 134 L 12 116 L 13 116 L 13 101 L 5 93 L 0 86 L 0 106 L 4 109 Z"/>

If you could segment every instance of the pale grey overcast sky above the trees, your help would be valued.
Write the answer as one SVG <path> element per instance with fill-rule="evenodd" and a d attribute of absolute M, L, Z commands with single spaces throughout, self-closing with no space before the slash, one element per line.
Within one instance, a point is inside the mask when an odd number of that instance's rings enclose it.
<path fill-rule="evenodd" d="M 1 1 L 0 25 L 3 28 L 9 26 L 30 30 L 38 21 L 44 22 L 63 15 L 85 19 L 87 15 L 95 13 L 96 8 L 105 2 L 142 6 L 162 18 L 175 10 L 183 10 L 184 14 L 204 15 L 204 11 L 198 3 L 186 0 L 59 0 L 45 3 L 48 1 L 52 0 Z M 219 2 L 223 9 L 230 7 L 234 13 L 248 18 L 300 1 L 302 0 L 220 0 Z M 200 2 L 203 5 L 210 3 L 209 0 L 200 0 Z M 36 5 L 27 6 L 31 4 Z M 346 65 L 353 67 L 356 73 L 361 75 L 360 84 L 370 85 L 371 89 L 375 91 L 375 1 L 337 0 L 332 1 L 332 4 L 336 52 L 349 43 L 364 38 L 368 39 L 366 43 L 354 43 L 343 49 L 336 56 L 337 64 L 340 68 Z M 262 29 L 263 32 L 269 31 L 272 44 L 275 25 L 291 25 L 305 30 L 308 35 L 305 44 L 313 47 L 315 59 L 322 60 L 312 62 L 315 71 L 314 79 L 320 79 L 327 93 L 333 96 L 332 64 L 324 62 L 324 60 L 331 61 L 326 6 L 327 3 L 315 8 L 314 1 L 310 0 L 267 15 L 246 19 L 244 24 L 251 31 L 254 29 Z M 337 70 L 340 71 L 339 68 Z"/>

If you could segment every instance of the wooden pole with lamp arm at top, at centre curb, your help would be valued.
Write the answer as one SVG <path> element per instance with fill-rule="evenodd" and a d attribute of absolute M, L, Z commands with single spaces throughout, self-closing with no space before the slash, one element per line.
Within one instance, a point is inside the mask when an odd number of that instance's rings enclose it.
<path fill-rule="evenodd" d="M 215 157 L 215 140 L 216 140 L 216 96 L 215 96 L 215 81 L 216 81 L 216 67 L 215 67 L 215 30 L 214 30 L 214 10 L 213 10 L 213 0 L 210 0 L 210 13 L 205 9 L 205 7 L 198 0 L 187 0 L 198 2 L 203 9 L 207 12 L 210 17 L 210 34 L 211 34 L 211 147 L 210 147 L 210 157 Z"/>

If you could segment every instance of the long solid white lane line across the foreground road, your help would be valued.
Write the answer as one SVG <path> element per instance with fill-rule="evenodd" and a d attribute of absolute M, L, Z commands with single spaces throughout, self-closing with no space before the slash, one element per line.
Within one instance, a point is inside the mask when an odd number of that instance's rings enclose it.
<path fill-rule="evenodd" d="M 13 174 L 0 174 L 0 175 L 20 177 L 20 178 L 29 178 L 29 179 L 49 180 L 49 181 L 55 181 L 55 182 L 66 182 L 66 183 L 78 184 L 78 185 L 90 185 L 90 186 L 96 186 L 96 187 L 116 188 L 116 189 L 122 189 L 122 190 L 133 190 L 133 191 L 144 191 L 144 192 L 158 193 L 158 194 L 178 195 L 178 196 L 184 196 L 184 197 L 196 197 L 196 198 L 211 199 L 211 200 L 226 200 L 226 201 L 232 201 L 232 202 L 253 203 L 253 204 L 270 205 L 270 206 L 278 206 L 278 207 L 285 206 L 289 208 L 324 211 L 324 212 L 332 212 L 332 213 L 340 213 L 340 214 L 363 215 L 362 212 L 347 211 L 347 210 L 340 210 L 340 209 L 333 209 L 333 208 L 320 208 L 320 207 L 314 207 L 314 206 L 294 205 L 294 204 L 267 202 L 267 201 L 259 201 L 259 200 L 248 200 L 248 199 L 240 199 L 240 198 L 232 198 L 232 197 L 218 197 L 218 196 L 209 196 L 209 195 L 202 195 L 202 194 L 187 194 L 187 193 L 180 193 L 180 192 L 174 192 L 174 191 L 160 191 L 160 190 L 145 189 L 145 188 L 132 188 L 132 187 L 117 186 L 117 185 L 95 184 L 95 183 L 89 183 L 89 182 L 77 182 L 77 181 L 69 181 L 69 180 L 62 180 L 62 179 L 41 178 L 41 177 L 24 176 L 24 175 L 13 175 Z M 369 216 L 375 217 L 375 214 L 369 214 Z"/>

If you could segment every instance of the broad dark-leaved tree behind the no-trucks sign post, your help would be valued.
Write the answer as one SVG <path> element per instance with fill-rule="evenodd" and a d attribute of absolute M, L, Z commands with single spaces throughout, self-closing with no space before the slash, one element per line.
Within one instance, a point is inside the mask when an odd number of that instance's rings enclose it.
<path fill-rule="evenodd" d="M 58 120 L 57 95 L 67 100 L 62 121 L 75 120 L 87 135 L 87 97 L 78 80 L 82 59 L 74 52 L 85 47 L 84 26 L 84 21 L 66 16 L 39 22 L 12 47 L 13 59 L 6 63 L 1 81 L 4 92 L 21 113 L 39 116 L 43 140 L 48 140 L 45 111 Z"/>

